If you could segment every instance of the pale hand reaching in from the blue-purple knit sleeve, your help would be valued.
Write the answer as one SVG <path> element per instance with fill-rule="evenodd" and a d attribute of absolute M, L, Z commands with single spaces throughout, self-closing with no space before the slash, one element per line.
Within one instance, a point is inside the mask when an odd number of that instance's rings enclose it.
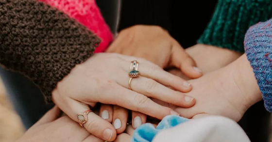
<path fill-rule="evenodd" d="M 187 95 L 194 97 L 198 103 L 188 109 L 171 107 L 187 118 L 211 114 L 229 117 L 238 122 L 249 107 L 262 99 L 245 55 L 190 82 L 194 89 Z"/>

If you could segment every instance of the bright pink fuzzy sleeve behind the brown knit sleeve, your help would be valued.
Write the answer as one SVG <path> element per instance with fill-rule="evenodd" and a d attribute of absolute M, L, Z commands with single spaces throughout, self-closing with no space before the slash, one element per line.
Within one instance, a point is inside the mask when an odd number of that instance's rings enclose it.
<path fill-rule="evenodd" d="M 40 0 L 76 19 L 101 38 L 95 53 L 104 52 L 113 40 L 113 34 L 106 24 L 95 0 Z"/>

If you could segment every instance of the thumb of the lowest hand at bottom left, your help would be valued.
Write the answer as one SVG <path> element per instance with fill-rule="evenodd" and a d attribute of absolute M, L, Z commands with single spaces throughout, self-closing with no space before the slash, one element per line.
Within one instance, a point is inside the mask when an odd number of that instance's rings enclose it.
<path fill-rule="evenodd" d="M 61 110 L 57 106 L 54 106 L 51 110 L 46 112 L 45 115 L 38 122 L 36 122 L 34 125 L 39 126 L 39 125 L 43 125 L 46 123 L 50 123 L 50 122 L 56 120 L 57 118 L 59 118 L 60 113 L 61 113 Z"/>

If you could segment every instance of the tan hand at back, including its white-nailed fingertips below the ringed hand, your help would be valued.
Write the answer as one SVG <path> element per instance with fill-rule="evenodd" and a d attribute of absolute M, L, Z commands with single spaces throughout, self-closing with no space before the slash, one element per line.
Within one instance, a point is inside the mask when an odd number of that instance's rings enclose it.
<path fill-rule="evenodd" d="M 141 57 L 149 60 L 161 68 L 175 66 L 189 78 L 199 78 L 202 72 L 195 62 L 184 51 L 170 34 L 159 26 L 136 25 L 122 30 L 107 52 Z M 128 110 L 119 106 L 101 106 L 101 116 L 113 123 L 117 133 L 125 130 Z M 132 111 L 132 125 L 134 128 L 146 122 L 147 116 Z"/>

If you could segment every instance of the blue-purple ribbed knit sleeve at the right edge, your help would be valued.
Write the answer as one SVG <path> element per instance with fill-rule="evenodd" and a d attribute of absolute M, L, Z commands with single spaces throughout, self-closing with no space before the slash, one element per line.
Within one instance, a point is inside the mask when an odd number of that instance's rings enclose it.
<path fill-rule="evenodd" d="M 265 108 L 272 112 L 272 19 L 250 27 L 244 45 L 263 95 Z"/>

